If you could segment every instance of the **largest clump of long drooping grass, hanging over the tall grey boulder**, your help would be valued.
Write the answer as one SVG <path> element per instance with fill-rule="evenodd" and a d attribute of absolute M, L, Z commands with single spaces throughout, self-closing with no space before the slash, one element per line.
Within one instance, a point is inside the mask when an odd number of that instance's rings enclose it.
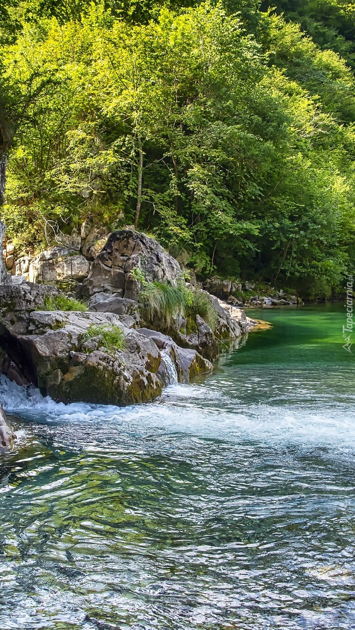
<path fill-rule="evenodd" d="M 159 319 L 169 328 L 174 318 L 185 315 L 190 294 L 182 283 L 173 287 L 165 282 L 149 282 L 141 289 L 139 301 L 148 321 Z"/>

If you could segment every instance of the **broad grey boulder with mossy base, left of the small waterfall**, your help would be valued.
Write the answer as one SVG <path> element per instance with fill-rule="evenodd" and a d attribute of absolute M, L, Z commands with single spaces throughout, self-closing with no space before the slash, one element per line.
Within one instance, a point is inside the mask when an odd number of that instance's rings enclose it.
<path fill-rule="evenodd" d="M 126 328 L 119 316 L 33 311 L 15 319 L 2 319 L 0 346 L 44 396 L 63 403 L 98 404 L 136 404 L 160 396 L 158 348 L 146 336 Z M 88 353 L 83 335 L 91 324 L 120 326 L 125 349 L 108 353 L 98 348 Z"/>

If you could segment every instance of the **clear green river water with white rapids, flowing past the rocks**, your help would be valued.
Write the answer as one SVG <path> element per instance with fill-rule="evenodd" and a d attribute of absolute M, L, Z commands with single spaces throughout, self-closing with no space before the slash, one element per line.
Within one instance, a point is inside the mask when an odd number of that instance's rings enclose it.
<path fill-rule="evenodd" d="M 342 307 L 264 309 L 154 404 L 3 381 L 0 628 L 355 628 L 354 356 Z"/>

